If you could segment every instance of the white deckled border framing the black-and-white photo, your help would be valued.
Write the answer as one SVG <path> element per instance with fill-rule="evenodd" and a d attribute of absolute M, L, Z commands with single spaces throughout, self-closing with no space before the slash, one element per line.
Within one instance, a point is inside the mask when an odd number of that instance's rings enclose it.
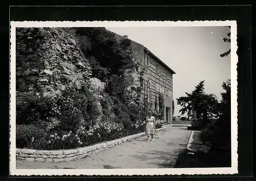
<path fill-rule="evenodd" d="M 231 26 L 231 167 L 161 169 L 16 169 L 15 28 L 16 27 L 200 27 Z M 10 175 L 181 175 L 238 173 L 237 22 L 226 21 L 11 21 Z"/>

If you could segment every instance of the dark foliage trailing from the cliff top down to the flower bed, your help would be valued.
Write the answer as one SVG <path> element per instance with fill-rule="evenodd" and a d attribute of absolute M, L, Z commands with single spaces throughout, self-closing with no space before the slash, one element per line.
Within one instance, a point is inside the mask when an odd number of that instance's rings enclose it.
<path fill-rule="evenodd" d="M 92 77 L 106 82 L 105 93 L 112 100 L 115 119 L 124 127 L 139 119 L 138 105 L 129 104 L 124 70 L 137 66 L 131 54 L 131 40 L 115 39 L 115 34 L 102 27 L 76 28 L 80 49 L 89 58 Z M 130 111 L 133 109 L 134 111 Z M 106 110 L 107 111 L 107 108 Z"/>

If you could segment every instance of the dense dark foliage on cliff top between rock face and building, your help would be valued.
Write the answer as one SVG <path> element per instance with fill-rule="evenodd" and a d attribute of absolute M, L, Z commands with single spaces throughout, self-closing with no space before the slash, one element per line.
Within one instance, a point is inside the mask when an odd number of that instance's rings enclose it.
<path fill-rule="evenodd" d="M 106 81 L 111 75 L 120 75 L 127 67 L 136 66 L 126 52 L 131 41 L 118 42 L 114 33 L 102 27 L 76 28 L 76 35 L 80 49 L 91 59 L 92 77 Z"/>

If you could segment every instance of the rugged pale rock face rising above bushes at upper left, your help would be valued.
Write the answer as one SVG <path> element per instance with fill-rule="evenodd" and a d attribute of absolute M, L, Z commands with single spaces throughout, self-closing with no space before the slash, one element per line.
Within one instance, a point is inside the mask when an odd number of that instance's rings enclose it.
<path fill-rule="evenodd" d="M 91 68 L 75 38 L 62 28 L 16 29 L 17 101 L 39 92 L 59 94 L 66 87 L 81 88 Z"/>

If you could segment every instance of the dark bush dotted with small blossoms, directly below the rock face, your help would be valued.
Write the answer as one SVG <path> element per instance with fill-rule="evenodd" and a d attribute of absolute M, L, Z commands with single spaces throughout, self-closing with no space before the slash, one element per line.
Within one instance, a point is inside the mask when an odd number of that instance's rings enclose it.
<path fill-rule="evenodd" d="M 29 97 L 17 104 L 16 123 L 36 124 L 48 131 L 76 131 L 79 126 L 96 124 L 100 110 L 93 93 L 83 87 L 78 91 L 67 88 L 61 96 Z"/>

